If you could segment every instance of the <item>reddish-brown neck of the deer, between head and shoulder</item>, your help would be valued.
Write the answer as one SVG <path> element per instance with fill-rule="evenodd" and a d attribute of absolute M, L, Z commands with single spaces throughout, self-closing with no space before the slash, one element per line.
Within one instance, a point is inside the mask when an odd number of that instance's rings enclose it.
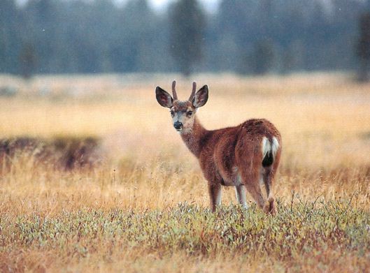
<path fill-rule="evenodd" d="M 192 128 L 189 128 L 187 131 L 181 133 L 181 138 L 190 152 L 192 152 L 197 158 L 201 153 L 201 140 L 204 138 L 208 131 L 200 124 L 197 117 L 194 118 L 194 124 Z"/>

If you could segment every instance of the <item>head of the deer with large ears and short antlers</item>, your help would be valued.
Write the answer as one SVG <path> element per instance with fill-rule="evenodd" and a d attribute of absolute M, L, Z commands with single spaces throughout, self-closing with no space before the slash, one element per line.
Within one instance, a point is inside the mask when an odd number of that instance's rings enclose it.
<path fill-rule="evenodd" d="M 178 100 L 176 94 L 176 81 L 172 82 L 172 96 L 161 87 L 155 89 L 157 101 L 163 107 L 169 108 L 173 127 L 179 133 L 190 131 L 194 124 L 197 109 L 206 104 L 208 100 L 208 86 L 204 85 L 197 92 L 197 84 L 193 82 L 192 94 L 187 101 Z"/>

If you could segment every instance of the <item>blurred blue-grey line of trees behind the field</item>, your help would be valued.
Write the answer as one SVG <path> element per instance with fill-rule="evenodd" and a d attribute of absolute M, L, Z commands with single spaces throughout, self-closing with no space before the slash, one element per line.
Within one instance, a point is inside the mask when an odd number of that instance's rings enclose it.
<path fill-rule="evenodd" d="M 222 0 L 212 14 L 196 0 L 163 12 L 147 0 L 1 0 L 0 73 L 355 69 L 370 58 L 364 10 L 370 0 Z"/>

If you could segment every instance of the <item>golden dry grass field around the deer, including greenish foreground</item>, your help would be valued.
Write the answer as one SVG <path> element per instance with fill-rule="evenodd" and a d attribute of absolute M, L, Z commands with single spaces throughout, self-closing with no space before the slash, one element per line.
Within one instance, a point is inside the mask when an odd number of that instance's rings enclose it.
<path fill-rule="evenodd" d="M 94 138 L 96 162 L 64 170 L 37 151 L 3 160 L 1 272 L 369 272 L 370 84 L 342 73 L 199 75 L 208 129 L 252 117 L 280 130 L 278 215 L 233 188 L 208 211 L 206 181 L 155 87 L 176 75 L 0 76 L 0 138 Z M 1 87 L 1 86 L 0 86 Z M 248 199 L 250 196 L 248 195 Z"/>

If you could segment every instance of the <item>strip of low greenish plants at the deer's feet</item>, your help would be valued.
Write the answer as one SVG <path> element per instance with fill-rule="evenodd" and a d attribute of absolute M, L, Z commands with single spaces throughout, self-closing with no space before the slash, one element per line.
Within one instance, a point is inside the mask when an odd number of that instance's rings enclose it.
<path fill-rule="evenodd" d="M 160 251 L 214 256 L 244 253 L 286 260 L 327 248 L 369 255 L 370 214 L 349 202 L 278 204 L 278 215 L 251 207 L 220 207 L 215 214 L 180 204 L 163 211 L 81 209 L 58 216 L 1 217 L 0 251 L 45 248 L 86 256 L 101 242 Z"/>

